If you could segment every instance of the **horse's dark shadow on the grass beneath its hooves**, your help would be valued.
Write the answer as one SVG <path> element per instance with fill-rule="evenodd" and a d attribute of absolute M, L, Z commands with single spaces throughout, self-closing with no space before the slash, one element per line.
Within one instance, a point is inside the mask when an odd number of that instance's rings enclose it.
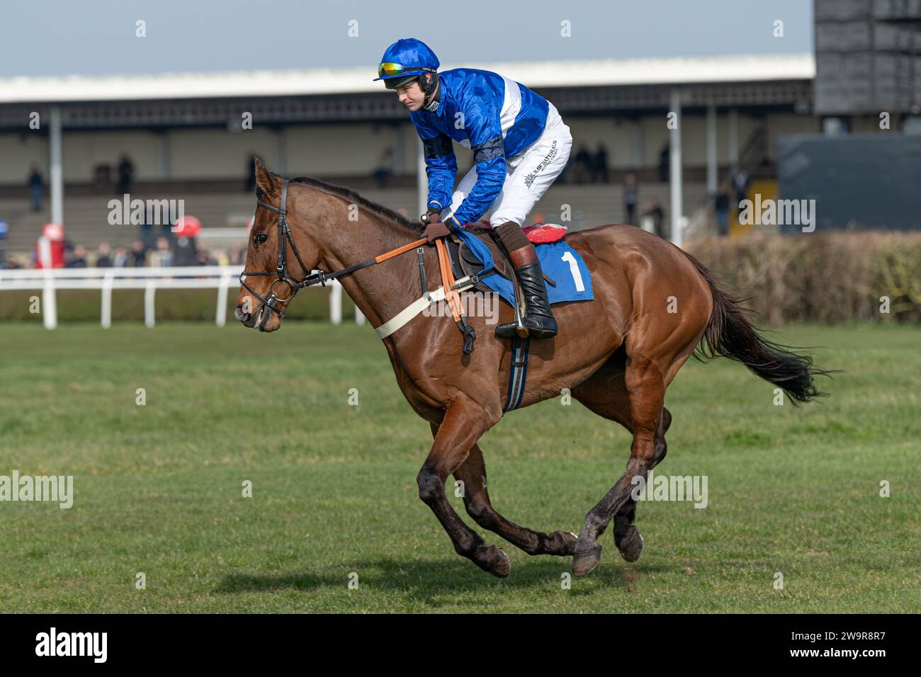
<path fill-rule="evenodd" d="M 411 598 L 430 601 L 433 593 L 476 589 L 563 589 L 564 574 L 570 572 L 570 558 L 542 558 L 518 562 L 508 578 L 495 578 L 462 559 L 397 559 L 378 557 L 350 564 L 330 566 L 323 573 L 279 573 L 273 575 L 230 574 L 215 589 L 217 594 L 272 592 L 283 589 L 313 591 L 321 587 L 347 587 L 352 573 L 357 574 L 362 589 L 401 592 Z M 674 566 L 625 565 L 618 558 L 605 562 L 587 577 L 568 577 L 577 595 L 591 595 L 600 589 L 624 589 L 630 592 L 646 574 L 670 571 Z M 351 577 L 355 578 L 355 577 Z M 586 585 L 589 584 L 589 585 Z M 446 602 L 448 603 L 448 602 Z M 450 603 L 457 603 L 452 601 Z"/>

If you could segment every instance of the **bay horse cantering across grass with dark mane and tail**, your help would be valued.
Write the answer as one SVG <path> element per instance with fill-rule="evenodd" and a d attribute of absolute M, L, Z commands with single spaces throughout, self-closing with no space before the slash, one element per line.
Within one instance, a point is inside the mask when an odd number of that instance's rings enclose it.
<path fill-rule="evenodd" d="M 414 253 L 380 256 L 419 246 L 418 223 L 323 181 L 283 181 L 258 158 L 256 195 L 234 312 L 247 327 L 274 332 L 295 291 L 331 274 L 375 327 L 421 296 Z M 568 389 L 589 410 L 633 435 L 625 472 L 589 510 L 578 536 L 532 531 L 490 503 L 478 440 L 503 415 L 511 339 L 495 338 L 483 317 L 468 317 L 483 338 L 472 355 L 462 355 L 454 322 L 417 315 L 383 340 L 403 395 L 434 437 L 416 477 L 419 497 L 448 532 L 454 550 L 500 578 L 509 573 L 508 557 L 484 543 L 451 508 L 445 495 L 449 475 L 463 483 L 470 517 L 528 554 L 572 555 L 573 572 L 587 574 L 600 561 L 598 538 L 613 519 L 614 543 L 633 562 L 643 541 L 633 524 L 631 480 L 647 478 L 665 458 L 671 423 L 665 391 L 690 356 L 737 360 L 794 403 L 821 395 L 814 377 L 827 373 L 813 368 L 810 356 L 760 336 L 740 299 L 730 297 L 701 263 L 670 242 L 624 225 L 569 233 L 565 241 L 585 260 L 595 298 L 554 304 L 559 333 L 531 341 L 519 406 Z M 438 280 L 437 251 L 424 249 L 427 279 Z M 318 277 L 311 270 L 326 274 Z M 498 321 L 512 321 L 511 307 L 500 307 Z"/>

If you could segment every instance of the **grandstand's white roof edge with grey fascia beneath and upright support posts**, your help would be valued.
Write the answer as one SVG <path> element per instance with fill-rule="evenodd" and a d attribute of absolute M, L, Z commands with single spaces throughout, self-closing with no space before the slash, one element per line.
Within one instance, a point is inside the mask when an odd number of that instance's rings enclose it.
<path fill-rule="evenodd" d="M 451 67 L 451 66 L 446 66 Z M 626 61 L 478 64 L 554 101 L 565 116 L 705 111 L 708 185 L 716 183 L 717 109 L 809 111 L 811 54 L 729 55 Z M 0 79 L 0 132 L 23 133 L 38 112 L 48 134 L 52 219 L 64 221 L 61 135 L 67 130 L 227 127 L 243 111 L 261 125 L 405 123 L 406 111 L 370 81 L 367 69 Z M 738 115 L 729 116 L 738 151 Z M 639 138 L 639 137 L 637 137 Z M 637 141 L 637 144 L 640 142 Z M 672 239 L 681 244 L 681 130 L 670 133 Z M 166 152 L 166 151 L 163 151 Z M 729 158 L 735 162 L 737 158 Z M 425 193 L 424 160 L 418 185 Z M 424 198 L 420 199 L 420 203 Z M 420 209 L 420 213 L 423 210 Z"/>

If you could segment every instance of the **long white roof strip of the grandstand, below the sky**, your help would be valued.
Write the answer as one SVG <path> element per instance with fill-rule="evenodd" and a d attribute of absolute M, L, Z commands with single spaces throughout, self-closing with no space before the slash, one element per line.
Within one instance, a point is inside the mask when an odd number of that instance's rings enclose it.
<path fill-rule="evenodd" d="M 460 67 L 447 65 L 442 70 Z M 571 62 L 466 64 L 495 71 L 530 88 L 611 87 L 811 80 L 815 58 L 804 54 L 742 54 Z M 382 91 L 373 65 L 360 68 L 163 73 L 121 76 L 0 78 L 0 103 L 209 99 L 304 96 Z"/>

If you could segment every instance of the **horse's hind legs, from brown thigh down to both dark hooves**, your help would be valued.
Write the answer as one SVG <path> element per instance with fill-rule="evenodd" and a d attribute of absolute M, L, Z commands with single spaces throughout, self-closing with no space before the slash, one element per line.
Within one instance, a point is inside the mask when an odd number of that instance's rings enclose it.
<path fill-rule="evenodd" d="M 573 556 L 573 573 L 577 575 L 587 574 L 598 566 L 601 558 L 598 537 L 622 510 L 624 512 L 620 524 L 615 521 L 614 526 L 618 548 L 625 551 L 624 557 L 627 558 L 634 554 L 638 557 L 638 550 L 642 548 L 642 539 L 631 524 L 635 514 L 631 492 L 635 488 L 633 479 L 640 476 L 646 481 L 647 474 L 656 464 L 657 447 L 662 451 L 661 456 L 664 456 L 664 432 L 659 434 L 659 428 L 665 423 L 665 414 L 662 412 L 665 381 L 655 363 L 645 356 L 636 355 L 627 361 L 624 385 L 629 396 L 630 426 L 633 431 L 630 460 L 617 484 L 586 515 L 585 526 L 579 533 Z M 622 534 L 617 533 L 618 526 L 623 529 Z M 617 538 L 618 535 L 621 538 Z"/>

